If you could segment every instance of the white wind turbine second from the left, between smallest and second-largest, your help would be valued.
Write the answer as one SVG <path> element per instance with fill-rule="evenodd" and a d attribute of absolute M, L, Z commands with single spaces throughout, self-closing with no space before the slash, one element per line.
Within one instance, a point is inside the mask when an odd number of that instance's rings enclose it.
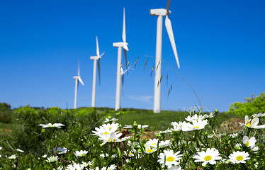
<path fill-rule="evenodd" d="M 105 52 L 102 53 L 102 55 Z M 96 63 L 98 63 L 98 78 L 99 82 L 101 81 L 101 72 L 100 72 L 100 60 L 102 55 L 99 53 L 98 49 L 98 37 L 96 37 L 96 56 L 91 56 L 90 60 L 94 60 L 94 71 L 93 71 L 93 86 L 92 86 L 92 101 L 91 101 L 91 107 L 95 107 L 95 101 L 96 101 Z"/>

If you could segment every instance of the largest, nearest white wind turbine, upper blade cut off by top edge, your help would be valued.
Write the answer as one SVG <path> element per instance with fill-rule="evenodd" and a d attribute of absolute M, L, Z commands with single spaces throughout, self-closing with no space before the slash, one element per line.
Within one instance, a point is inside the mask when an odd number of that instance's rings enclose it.
<path fill-rule="evenodd" d="M 157 45 L 156 45 L 156 53 L 155 53 L 155 77 L 154 77 L 154 113 L 160 113 L 160 105 L 161 105 L 161 62 L 162 62 L 162 22 L 163 16 L 166 16 L 165 25 L 167 28 L 167 33 L 169 34 L 169 40 L 171 42 L 171 46 L 174 52 L 174 56 L 176 58 L 176 64 L 179 67 L 179 58 L 176 53 L 176 43 L 174 40 L 174 34 L 171 26 L 171 21 L 169 20 L 169 5 L 170 1 L 167 1 L 167 9 L 158 8 L 151 9 L 150 15 L 157 16 Z M 180 68 L 180 67 L 179 67 Z"/>

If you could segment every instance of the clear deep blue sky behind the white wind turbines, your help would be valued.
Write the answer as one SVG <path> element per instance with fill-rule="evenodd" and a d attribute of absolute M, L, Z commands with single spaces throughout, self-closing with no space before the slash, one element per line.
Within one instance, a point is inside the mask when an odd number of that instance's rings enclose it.
<path fill-rule="evenodd" d="M 77 106 L 91 106 L 89 57 L 96 55 L 97 35 L 105 55 L 96 106 L 114 108 L 118 49 L 112 43 L 122 41 L 125 7 L 128 60 L 132 66 L 137 57 L 139 61 L 125 74 L 121 108 L 152 109 L 157 17 L 149 10 L 166 6 L 167 0 L 0 1 L 0 102 L 12 108 L 73 108 L 79 59 L 85 86 L 79 86 Z M 264 8 L 263 0 L 171 0 L 169 18 L 181 65 L 177 71 L 208 110 L 227 111 L 231 103 L 265 91 Z M 162 59 L 177 68 L 164 21 Z M 199 105 L 165 63 L 162 74 L 162 110 Z"/>

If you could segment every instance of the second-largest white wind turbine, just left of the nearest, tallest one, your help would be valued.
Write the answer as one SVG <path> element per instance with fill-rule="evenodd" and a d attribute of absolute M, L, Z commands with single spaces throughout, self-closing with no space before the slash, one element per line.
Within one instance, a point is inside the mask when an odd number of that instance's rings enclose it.
<path fill-rule="evenodd" d="M 126 30 L 125 30 L 125 8 L 123 8 L 123 42 L 114 42 L 113 47 L 118 47 L 118 61 L 117 61 L 117 84 L 116 84 L 116 99 L 115 99 L 115 111 L 120 109 L 120 64 L 121 64 L 121 48 L 123 48 L 126 68 L 128 67 L 127 53 L 128 43 L 126 42 Z"/>

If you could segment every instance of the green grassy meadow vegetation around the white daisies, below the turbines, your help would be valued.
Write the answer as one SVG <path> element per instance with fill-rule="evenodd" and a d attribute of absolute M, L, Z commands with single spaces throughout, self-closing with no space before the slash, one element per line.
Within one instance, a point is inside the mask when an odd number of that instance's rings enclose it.
<path fill-rule="evenodd" d="M 237 132 L 237 137 L 230 134 L 224 134 L 220 124 L 229 118 L 244 117 L 235 114 L 218 113 L 215 111 L 213 118 L 207 119 L 207 125 L 201 130 L 192 130 L 191 132 L 170 131 L 174 126 L 172 122 L 186 121 L 188 116 L 205 115 L 200 111 L 181 112 L 181 111 L 162 111 L 154 114 L 152 111 L 143 109 L 123 108 L 120 111 L 114 111 L 112 108 L 77 108 L 72 110 L 62 110 L 61 108 L 31 108 L 24 106 L 11 110 L 9 105 L 1 105 L 11 113 L 9 123 L 0 123 L 1 130 L 8 130 L 0 133 L 0 169 L 67 169 L 74 163 L 83 164 L 84 169 L 169 169 L 168 166 L 162 167 L 158 162 L 159 155 L 167 150 L 174 153 L 180 152 L 182 169 L 197 169 L 200 166 L 203 169 L 256 169 L 256 162 L 259 167 L 264 169 L 265 141 L 262 132 L 264 130 L 246 129 Z M 103 121 L 108 118 L 108 124 Z M 116 118 L 118 120 L 111 120 Z M 117 123 L 115 124 L 114 121 Z M 205 121 L 205 120 L 203 120 Z M 259 122 L 262 123 L 263 120 Z M 42 128 L 40 124 L 62 123 L 62 127 Z M 94 132 L 100 127 L 111 127 L 116 125 L 115 134 L 121 137 L 113 142 L 106 142 L 105 145 L 101 136 Z M 124 129 L 125 125 L 131 128 Z M 142 128 L 141 125 L 149 125 Z M 175 127 L 176 128 L 176 127 Z M 109 128 L 111 130 L 111 128 Z M 160 132 L 160 130 L 164 132 Z M 155 133 L 154 133 L 155 132 Z M 158 133 L 157 133 L 158 132 Z M 109 132 L 110 134 L 111 132 Z M 220 135 L 222 133 L 222 135 Z M 106 133 L 107 134 L 107 133 Z M 126 141 L 118 142 L 122 137 Z M 242 138 L 244 136 L 256 137 L 256 147 L 254 151 L 245 147 Z M 155 149 L 153 153 L 147 152 L 147 144 L 150 139 L 156 138 L 159 142 L 170 141 L 171 145 L 166 147 L 150 147 Z M 116 142 L 117 141 L 117 142 Z M 137 145 L 129 145 L 137 144 Z M 241 147 L 236 147 L 240 144 Z M 56 148 L 67 148 L 67 152 L 59 154 L 54 152 Z M 222 159 L 228 159 L 234 151 L 248 152 L 250 154 L 246 164 L 225 164 L 217 161 L 215 165 L 207 164 L 202 166 L 202 162 L 194 162 L 194 154 L 199 151 L 205 151 L 207 148 L 218 149 Z M 199 148 L 199 149 L 198 149 Z M 22 152 L 23 151 L 23 152 Z M 79 151 L 87 151 L 82 157 L 76 155 Z M 132 152 L 131 152 L 132 151 Z M 131 157 L 131 154 L 134 156 Z M 13 157 L 11 157 L 13 156 Z M 50 162 L 54 156 L 57 160 Z M 13 158 L 13 159 L 12 159 Z M 49 159 L 48 159 L 49 158 Z M 88 165 L 89 164 L 89 165 Z"/>

